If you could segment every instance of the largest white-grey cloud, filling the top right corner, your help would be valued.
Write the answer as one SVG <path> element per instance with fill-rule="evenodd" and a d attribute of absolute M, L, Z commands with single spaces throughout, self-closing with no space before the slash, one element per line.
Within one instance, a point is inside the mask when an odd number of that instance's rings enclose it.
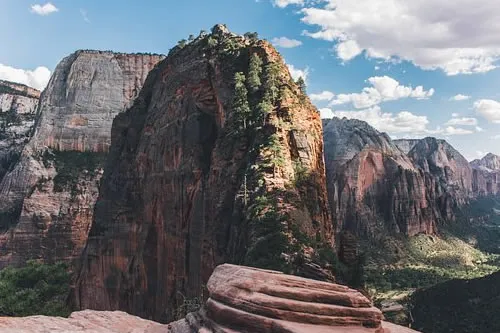
<path fill-rule="evenodd" d="M 302 0 L 275 2 L 282 2 L 283 7 L 290 2 L 304 5 Z M 487 72 L 500 60 L 496 1 L 324 0 L 306 4 L 302 21 L 312 31 L 305 35 L 334 41 L 343 60 L 364 51 L 369 58 L 407 60 L 448 75 Z"/>

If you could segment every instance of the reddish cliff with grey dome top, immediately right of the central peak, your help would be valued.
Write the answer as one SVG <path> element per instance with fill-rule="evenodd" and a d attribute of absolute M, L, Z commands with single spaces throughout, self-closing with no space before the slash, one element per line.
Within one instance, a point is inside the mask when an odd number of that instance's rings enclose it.
<path fill-rule="evenodd" d="M 432 233 L 442 193 L 385 133 L 366 122 L 333 118 L 323 130 L 330 206 L 336 231 L 363 237 Z M 342 244 L 341 244 L 342 245 Z"/>

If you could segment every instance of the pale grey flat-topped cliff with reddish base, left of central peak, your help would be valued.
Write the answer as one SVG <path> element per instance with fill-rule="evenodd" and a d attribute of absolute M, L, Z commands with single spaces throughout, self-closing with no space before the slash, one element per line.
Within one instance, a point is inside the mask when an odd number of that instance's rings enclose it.
<path fill-rule="evenodd" d="M 78 51 L 57 66 L 41 96 L 34 135 L 0 183 L 0 267 L 81 253 L 112 120 L 161 59 Z"/>

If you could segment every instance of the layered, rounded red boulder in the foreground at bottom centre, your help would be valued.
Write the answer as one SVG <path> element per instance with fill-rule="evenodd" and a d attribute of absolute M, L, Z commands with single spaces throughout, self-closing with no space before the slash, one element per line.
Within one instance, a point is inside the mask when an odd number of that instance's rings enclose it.
<path fill-rule="evenodd" d="M 387 328 L 365 296 L 337 284 L 221 265 L 207 287 L 205 308 L 171 323 L 172 333 L 414 332 Z"/>

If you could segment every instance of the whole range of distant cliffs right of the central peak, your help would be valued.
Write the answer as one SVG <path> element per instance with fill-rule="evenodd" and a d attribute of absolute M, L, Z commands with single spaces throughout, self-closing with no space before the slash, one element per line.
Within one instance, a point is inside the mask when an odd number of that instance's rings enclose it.
<path fill-rule="evenodd" d="M 473 170 L 445 140 L 392 141 L 363 121 L 345 118 L 323 124 L 337 232 L 362 237 L 434 233 L 471 199 L 499 193 L 497 172 Z M 495 159 L 483 163 L 494 166 Z"/>

